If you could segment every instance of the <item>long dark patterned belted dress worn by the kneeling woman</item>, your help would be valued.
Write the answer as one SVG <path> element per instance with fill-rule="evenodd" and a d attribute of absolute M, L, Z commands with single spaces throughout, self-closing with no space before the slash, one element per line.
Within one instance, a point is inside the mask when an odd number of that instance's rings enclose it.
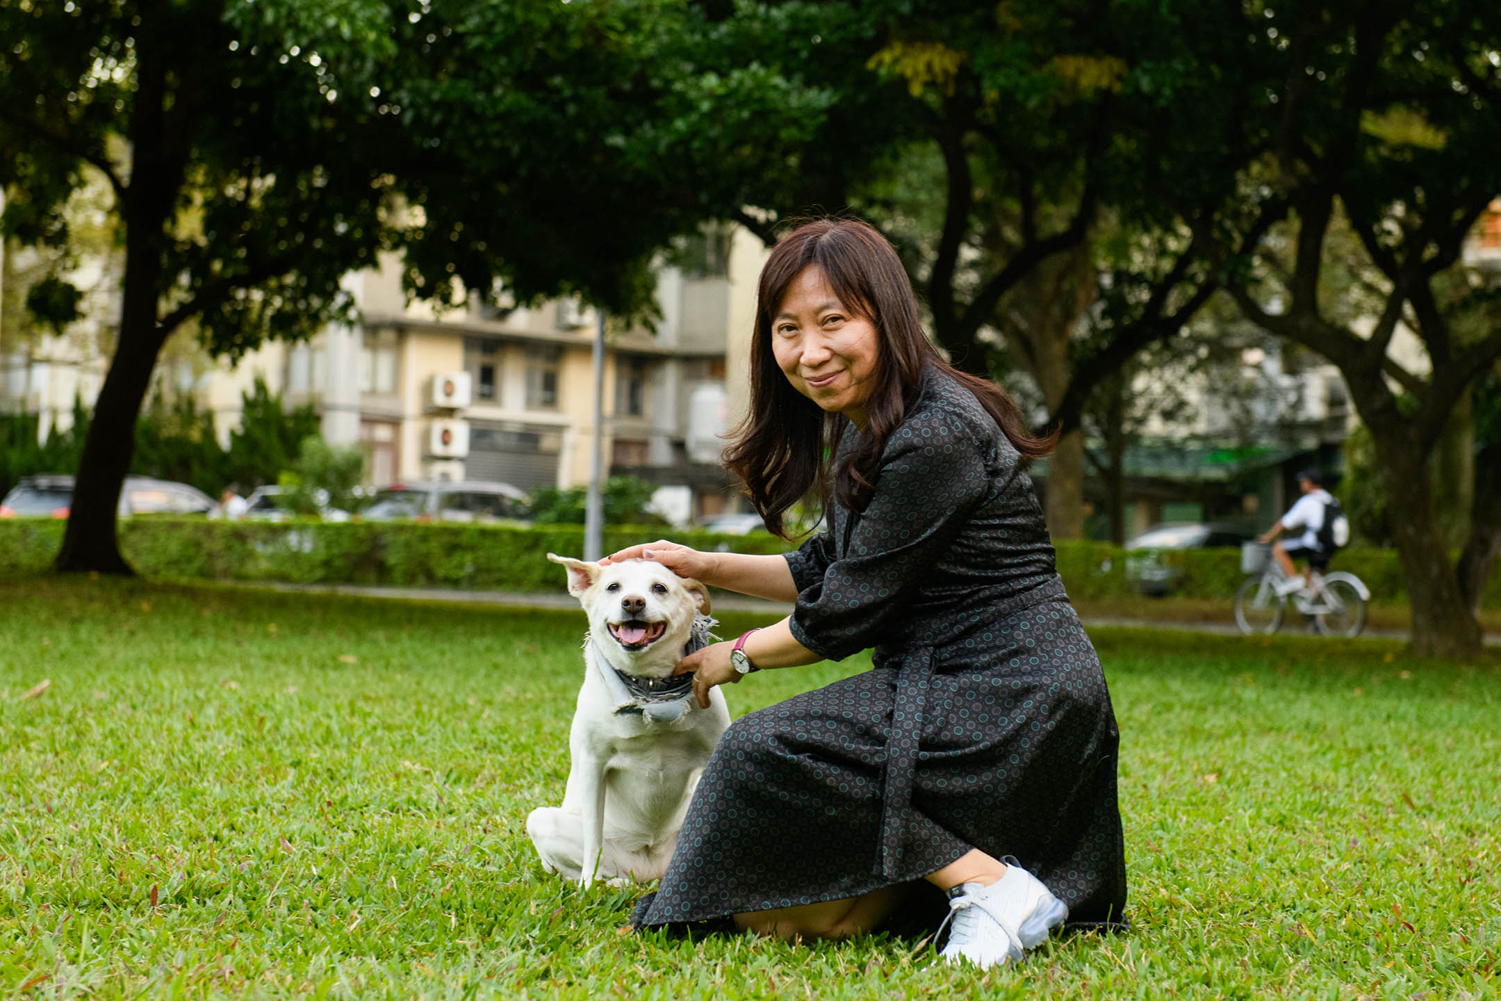
<path fill-rule="evenodd" d="M 787 560 L 797 641 L 830 660 L 874 647 L 875 666 L 731 725 L 638 923 L 853 897 L 970 848 L 1015 855 L 1070 923 L 1120 923 L 1105 675 L 979 401 L 929 369 L 866 510 L 832 506 Z"/>

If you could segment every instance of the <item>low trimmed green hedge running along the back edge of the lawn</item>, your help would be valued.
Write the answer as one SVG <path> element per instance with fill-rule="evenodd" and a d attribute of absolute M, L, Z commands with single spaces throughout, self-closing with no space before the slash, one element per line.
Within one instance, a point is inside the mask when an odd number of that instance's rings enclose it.
<path fill-rule="evenodd" d="M 720 536 L 657 527 L 612 527 L 605 549 L 663 534 L 696 549 L 784 552 L 790 543 L 764 533 Z M 0 521 L 0 573 L 47 569 L 63 539 L 63 522 Z M 293 521 L 224 522 L 189 518 L 132 518 L 120 522 L 120 548 L 141 573 L 224 581 L 453 587 L 480 591 L 552 591 L 558 569 L 548 552 L 579 555 L 581 525 L 402 524 Z M 1132 593 L 1126 551 L 1103 542 L 1060 542 L 1058 572 L 1078 599 Z M 1181 567 L 1174 594 L 1228 600 L 1243 579 L 1238 549 L 1160 551 Z M 1360 576 L 1376 602 L 1406 602 L 1402 564 L 1391 549 L 1345 549 L 1336 567 Z M 1501 573 L 1492 575 L 1486 608 L 1501 606 Z"/>

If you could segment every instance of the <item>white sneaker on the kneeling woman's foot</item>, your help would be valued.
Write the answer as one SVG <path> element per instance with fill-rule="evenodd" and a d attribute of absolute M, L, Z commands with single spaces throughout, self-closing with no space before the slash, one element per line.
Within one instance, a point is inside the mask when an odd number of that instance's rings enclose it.
<path fill-rule="evenodd" d="M 1046 941 L 1048 933 L 1069 917 L 1063 900 L 1015 863 L 991 885 L 965 882 L 949 894 L 944 924 L 952 924 L 941 956 L 950 963 L 971 962 L 980 969 L 1021 962 L 1025 950 Z"/>

